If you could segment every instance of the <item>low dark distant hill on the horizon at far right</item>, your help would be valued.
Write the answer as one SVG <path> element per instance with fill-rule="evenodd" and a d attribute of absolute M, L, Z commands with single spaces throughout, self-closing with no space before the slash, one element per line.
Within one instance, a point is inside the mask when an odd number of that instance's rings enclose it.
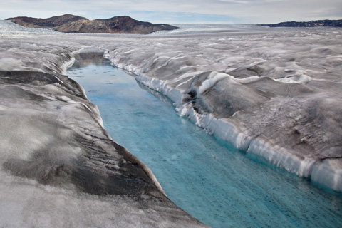
<path fill-rule="evenodd" d="M 342 27 L 342 20 L 318 20 L 318 21 L 287 21 L 278 24 L 261 24 L 261 26 L 269 27 L 318 27 L 318 26 L 331 26 L 331 27 Z"/>

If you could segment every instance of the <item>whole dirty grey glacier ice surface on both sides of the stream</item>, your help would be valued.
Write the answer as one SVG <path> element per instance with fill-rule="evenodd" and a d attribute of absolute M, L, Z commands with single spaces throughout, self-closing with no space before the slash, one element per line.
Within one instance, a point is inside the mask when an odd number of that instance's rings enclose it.
<path fill-rule="evenodd" d="M 106 133 L 83 88 L 63 76 L 73 54 L 89 47 L 247 156 L 341 192 L 341 37 L 341 28 L 229 25 L 66 34 L 0 21 L 1 221 L 204 226 L 168 201 L 148 167 Z M 127 173 L 129 186 L 110 192 L 106 180 Z"/>

